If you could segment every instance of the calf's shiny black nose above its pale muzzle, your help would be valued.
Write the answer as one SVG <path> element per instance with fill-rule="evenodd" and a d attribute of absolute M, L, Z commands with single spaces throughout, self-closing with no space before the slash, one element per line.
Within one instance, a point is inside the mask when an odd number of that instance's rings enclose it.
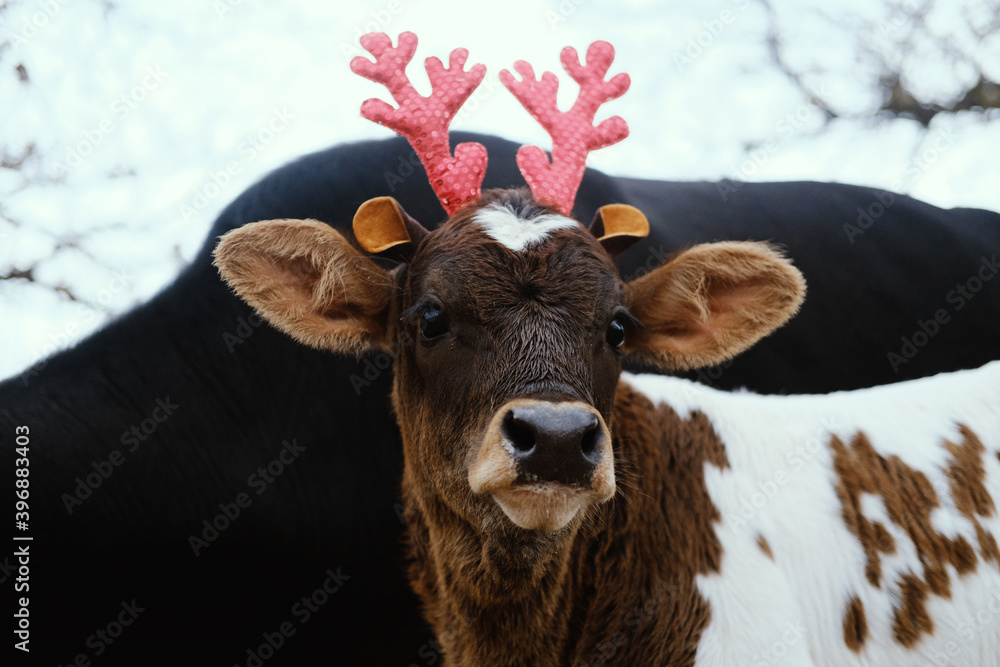
<path fill-rule="evenodd" d="M 500 428 L 514 448 L 519 482 L 590 485 L 604 441 L 593 409 L 559 403 L 518 406 L 507 411 Z"/>

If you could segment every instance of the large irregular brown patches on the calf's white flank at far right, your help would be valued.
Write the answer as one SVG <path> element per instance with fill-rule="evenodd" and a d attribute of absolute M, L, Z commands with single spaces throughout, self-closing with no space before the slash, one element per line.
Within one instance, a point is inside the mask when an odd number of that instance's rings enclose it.
<path fill-rule="evenodd" d="M 983 486 L 985 449 L 968 428 L 962 426 L 960 430 L 964 436 L 962 445 L 946 444 L 953 457 L 948 469 L 951 492 L 959 510 L 976 525 L 980 550 L 985 558 L 987 554 L 995 554 L 996 548 L 995 540 L 982 530 L 976 518 L 978 515 L 990 516 L 994 511 Z M 882 498 L 889 519 L 909 536 L 920 555 L 923 572 L 903 575 L 897 582 L 901 600 L 893 616 L 896 641 L 912 647 L 923 634 L 934 632 L 934 624 L 927 613 L 928 596 L 949 598 L 948 566 L 954 567 L 959 575 L 973 572 L 977 567 L 975 550 L 964 537 L 950 538 L 934 528 L 931 513 L 940 506 L 940 501 L 922 472 L 913 470 L 898 456 L 881 456 L 864 433 L 857 434 L 850 446 L 834 437 L 830 449 L 844 521 L 865 551 L 868 581 L 873 586 L 882 585 L 882 554 L 894 553 L 896 544 L 885 526 L 864 516 L 862 494 L 876 494 Z"/>

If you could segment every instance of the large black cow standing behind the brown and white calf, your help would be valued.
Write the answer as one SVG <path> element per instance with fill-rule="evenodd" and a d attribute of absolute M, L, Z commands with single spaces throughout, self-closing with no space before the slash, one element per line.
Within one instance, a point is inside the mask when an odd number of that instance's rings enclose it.
<path fill-rule="evenodd" d="M 523 183 L 515 144 L 452 138 L 487 146 L 484 187 Z M 0 552 L 0 585 L 29 597 L 33 657 L 439 661 L 402 573 L 388 359 L 294 343 L 229 293 L 210 263 L 229 229 L 315 218 L 346 230 L 380 195 L 421 221 L 446 217 L 401 139 L 308 156 L 234 201 L 191 266 L 150 302 L 0 384 L 0 470 L 12 483 L 15 429 L 27 426 L 34 537 L 30 592 L 13 590 L 13 552 L 24 543 Z M 715 386 L 826 392 L 1000 356 L 996 213 L 847 185 L 588 171 L 576 217 L 589 223 L 610 202 L 637 206 L 652 225 L 622 258 L 624 276 L 723 239 L 779 243 L 805 274 L 801 313 L 730 367 L 700 375 Z M 9 495 L 5 508 L 13 511 Z"/>

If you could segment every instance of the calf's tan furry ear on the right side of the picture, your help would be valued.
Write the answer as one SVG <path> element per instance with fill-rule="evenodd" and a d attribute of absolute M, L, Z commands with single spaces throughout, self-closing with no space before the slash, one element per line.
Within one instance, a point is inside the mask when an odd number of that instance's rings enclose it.
<path fill-rule="evenodd" d="M 625 352 L 665 370 L 725 361 L 798 311 L 802 274 L 766 243 L 708 243 L 628 283 Z"/>

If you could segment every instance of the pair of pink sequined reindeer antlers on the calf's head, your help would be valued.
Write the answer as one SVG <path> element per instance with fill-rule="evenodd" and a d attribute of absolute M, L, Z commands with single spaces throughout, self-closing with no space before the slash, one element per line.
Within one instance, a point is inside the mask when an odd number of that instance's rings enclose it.
<path fill-rule="evenodd" d="M 393 47 L 385 33 L 369 33 L 362 35 L 361 46 L 375 56 L 375 62 L 359 56 L 351 61 L 351 69 L 383 84 L 399 104 L 396 109 L 379 99 L 366 100 L 361 105 L 361 115 L 409 140 L 448 215 L 479 199 L 486 174 L 486 149 L 477 143 L 459 144 L 452 157 L 448 125 L 482 82 L 486 67 L 474 65 L 466 72 L 469 52 L 465 49 L 451 52 L 447 69 L 437 58 L 428 58 L 424 67 L 431 81 L 431 96 L 424 97 L 413 88 L 405 71 L 417 49 L 416 35 L 400 34 L 398 45 Z M 517 152 L 517 166 L 535 199 L 554 206 L 564 215 L 572 212 L 587 154 L 628 136 L 628 125 L 618 116 L 601 121 L 596 127 L 593 124 L 602 104 L 628 90 L 628 74 L 604 80 L 614 59 L 615 50 L 607 42 L 590 45 L 586 65 L 580 62 L 573 47 L 562 50 L 563 68 L 580 84 L 576 103 L 569 111 L 559 111 L 556 107 L 559 80 L 551 72 L 535 79 L 531 65 L 523 60 L 514 63 L 521 81 L 507 70 L 500 72 L 503 85 L 552 137 L 551 163 L 542 149 L 523 146 Z"/>

